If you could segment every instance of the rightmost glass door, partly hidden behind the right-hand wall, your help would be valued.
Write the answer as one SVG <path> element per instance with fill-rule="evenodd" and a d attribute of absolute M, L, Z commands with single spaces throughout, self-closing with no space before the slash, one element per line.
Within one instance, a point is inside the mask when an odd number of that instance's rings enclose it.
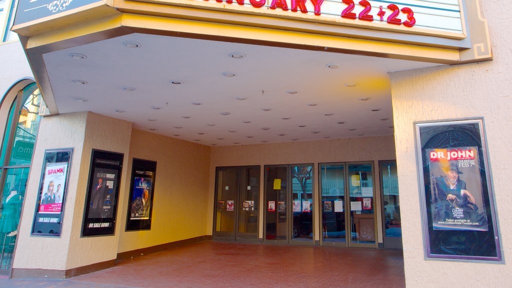
<path fill-rule="evenodd" d="M 396 161 L 381 161 L 379 167 L 384 248 L 401 249 L 402 225 Z"/>

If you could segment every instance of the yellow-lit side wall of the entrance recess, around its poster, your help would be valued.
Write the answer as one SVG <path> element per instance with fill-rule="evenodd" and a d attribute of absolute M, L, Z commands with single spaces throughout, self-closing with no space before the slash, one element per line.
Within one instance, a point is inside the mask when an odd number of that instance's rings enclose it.
<path fill-rule="evenodd" d="M 133 158 L 157 161 L 150 231 L 124 231 Z M 133 130 L 118 252 L 206 235 L 209 162 L 207 146 Z"/>

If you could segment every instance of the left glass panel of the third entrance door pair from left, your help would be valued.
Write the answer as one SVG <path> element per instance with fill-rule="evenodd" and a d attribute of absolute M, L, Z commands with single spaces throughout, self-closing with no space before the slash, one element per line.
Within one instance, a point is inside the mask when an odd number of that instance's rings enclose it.
<path fill-rule="evenodd" d="M 347 244 L 345 221 L 345 165 L 341 163 L 320 164 L 321 244 Z"/>

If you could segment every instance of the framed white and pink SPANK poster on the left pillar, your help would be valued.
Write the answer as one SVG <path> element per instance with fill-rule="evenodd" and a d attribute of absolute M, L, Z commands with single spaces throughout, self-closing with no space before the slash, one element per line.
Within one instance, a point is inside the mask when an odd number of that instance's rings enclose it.
<path fill-rule="evenodd" d="M 60 236 L 73 148 L 45 151 L 32 235 Z"/>

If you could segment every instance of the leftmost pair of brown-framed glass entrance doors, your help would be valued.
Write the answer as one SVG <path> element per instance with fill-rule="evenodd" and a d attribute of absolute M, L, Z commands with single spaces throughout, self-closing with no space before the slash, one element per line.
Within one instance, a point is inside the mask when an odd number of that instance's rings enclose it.
<path fill-rule="evenodd" d="M 214 238 L 258 240 L 259 167 L 218 167 Z"/>

